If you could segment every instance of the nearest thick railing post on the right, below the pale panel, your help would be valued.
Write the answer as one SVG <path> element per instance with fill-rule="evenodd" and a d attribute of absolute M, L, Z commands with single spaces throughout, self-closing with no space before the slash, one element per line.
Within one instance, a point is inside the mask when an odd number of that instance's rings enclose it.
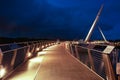
<path fill-rule="evenodd" d="M 115 80 L 115 74 L 114 74 L 109 56 L 104 53 L 102 55 L 103 55 L 103 61 L 104 61 L 105 71 L 106 71 L 106 79 L 107 80 Z"/>

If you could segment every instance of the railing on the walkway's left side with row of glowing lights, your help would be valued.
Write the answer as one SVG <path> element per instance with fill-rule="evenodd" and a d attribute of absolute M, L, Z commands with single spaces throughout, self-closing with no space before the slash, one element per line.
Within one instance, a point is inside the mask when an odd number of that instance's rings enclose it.
<path fill-rule="evenodd" d="M 30 41 L 0 45 L 0 79 L 7 77 L 16 67 L 54 45 L 55 41 Z"/>

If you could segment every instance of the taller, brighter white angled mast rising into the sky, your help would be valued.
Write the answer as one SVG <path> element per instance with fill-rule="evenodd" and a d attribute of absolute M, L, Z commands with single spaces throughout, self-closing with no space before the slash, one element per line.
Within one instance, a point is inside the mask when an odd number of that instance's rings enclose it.
<path fill-rule="evenodd" d="M 98 14 L 97 14 L 97 16 L 96 16 L 96 18 L 95 18 L 95 20 L 94 20 L 94 22 L 93 22 L 90 30 L 89 30 L 89 32 L 88 32 L 87 37 L 85 38 L 85 41 L 84 41 L 84 42 L 88 42 L 88 41 L 89 41 L 89 39 L 90 39 L 90 37 L 91 37 L 91 35 L 92 35 L 92 32 L 93 32 L 93 29 L 95 28 L 95 25 L 96 25 L 96 23 L 97 23 L 97 21 L 98 21 L 98 19 L 99 19 L 99 16 L 100 16 L 100 14 L 101 14 L 102 9 L 103 9 L 103 4 L 101 5 L 101 7 L 100 7 L 100 9 L 99 9 L 99 12 L 98 12 Z"/>

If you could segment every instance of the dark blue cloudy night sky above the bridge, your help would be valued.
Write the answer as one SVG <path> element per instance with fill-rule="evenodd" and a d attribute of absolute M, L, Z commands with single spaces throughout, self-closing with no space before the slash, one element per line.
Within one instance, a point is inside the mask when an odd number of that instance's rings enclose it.
<path fill-rule="evenodd" d="M 0 36 L 85 39 L 102 3 L 91 39 L 120 39 L 120 0 L 0 0 Z"/>

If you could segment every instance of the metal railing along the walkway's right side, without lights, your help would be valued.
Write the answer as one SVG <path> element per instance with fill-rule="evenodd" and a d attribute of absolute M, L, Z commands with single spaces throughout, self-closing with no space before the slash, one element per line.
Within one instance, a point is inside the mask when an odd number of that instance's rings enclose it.
<path fill-rule="evenodd" d="M 88 46 L 88 45 L 87 45 Z M 120 50 L 113 49 L 110 54 L 103 53 L 104 47 L 98 49 L 90 49 L 81 45 L 74 45 L 68 42 L 67 47 L 70 53 L 79 59 L 105 80 L 119 80 L 116 74 L 116 64 L 120 61 Z"/>

